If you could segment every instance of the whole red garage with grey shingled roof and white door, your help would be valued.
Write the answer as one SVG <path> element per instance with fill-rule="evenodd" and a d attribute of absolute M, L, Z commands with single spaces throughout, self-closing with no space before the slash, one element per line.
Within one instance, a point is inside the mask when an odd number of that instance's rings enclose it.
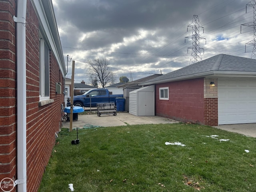
<path fill-rule="evenodd" d="M 210 126 L 256 122 L 254 59 L 220 54 L 140 85 L 155 85 L 157 116 Z"/>

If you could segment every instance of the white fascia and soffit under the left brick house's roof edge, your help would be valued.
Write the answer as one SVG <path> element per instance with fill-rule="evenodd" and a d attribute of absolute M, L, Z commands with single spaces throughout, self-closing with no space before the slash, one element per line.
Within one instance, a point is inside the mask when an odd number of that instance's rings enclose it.
<path fill-rule="evenodd" d="M 58 35 L 58 28 L 57 28 L 56 20 L 54 17 L 52 3 L 49 2 L 49 0 L 43 0 L 43 1 L 48 2 L 47 4 L 48 7 L 44 7 L 46 3 L 44 3 L 43 5 L 42 0 L 31 0 L 34 10 L 38 16 L 39 25 L 40 25 L 39 27 L 41 29 L 42 35 L 44 36 L 44 38 L 46 38 L 45 41 L 49 43 L 50 49 L 53 52 L 54 56 L 56 57 L 59 68 L 62 72 L 62 75 L 64 76 L 66 73 L 66 66 L 64 62 L 62 47 L 60 44 L 60 37 Z M 47 9 L 48 15 L 46 14 L 46 10 L 44 8 Z M 47 16 L 48 18 L 50 18 L 49 22 L 52 22 L 52 25 L 54 26 L 53 28 L 50 27 Z M 55 41 L 56 38 L 57 38 L 57 41 Z"/>

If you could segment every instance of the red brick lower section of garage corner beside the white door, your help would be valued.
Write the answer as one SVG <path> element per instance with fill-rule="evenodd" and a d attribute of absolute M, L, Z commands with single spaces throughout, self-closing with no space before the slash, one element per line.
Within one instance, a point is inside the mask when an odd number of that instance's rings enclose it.
<path fill-rule="evenodd" d="M 204 99 L 204 124 L 218 126 L 218 98 Z"/>

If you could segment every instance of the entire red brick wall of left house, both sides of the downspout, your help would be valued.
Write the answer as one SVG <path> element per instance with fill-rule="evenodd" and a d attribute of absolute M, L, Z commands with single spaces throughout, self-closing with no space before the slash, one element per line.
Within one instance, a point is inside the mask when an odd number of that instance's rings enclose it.
<path fill-rule="evenodd" d="M 0 178 L 16 178 L 16 47 L 13 16 L 16 1 L 0 1 Z M 63 94 L 56 94 L 56 82 L 64 85 L 55 56 L 50 51 L 50 99 L 39 106 L 38 18 L 31 2 L 26 14 L 26 116 L 27 191 L 37 191 L 61 125 Z M 3 43 L 2 43 L 3 42 Z M 63 91 L 63 90 L 62 90 Z"/>

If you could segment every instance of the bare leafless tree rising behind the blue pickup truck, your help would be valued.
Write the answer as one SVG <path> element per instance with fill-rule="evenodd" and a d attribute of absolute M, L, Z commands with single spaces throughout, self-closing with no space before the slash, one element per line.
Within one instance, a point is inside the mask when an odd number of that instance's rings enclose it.
<path fill-rule="evenodd" d="M 97 78 L 102 88 L 104 88 L 107 83 L 111 82 L 112 70 L 108 67 L 109 61 L 106 58 L 88 59 L 87 63 L 90 66 L 90 75 Z"/>

